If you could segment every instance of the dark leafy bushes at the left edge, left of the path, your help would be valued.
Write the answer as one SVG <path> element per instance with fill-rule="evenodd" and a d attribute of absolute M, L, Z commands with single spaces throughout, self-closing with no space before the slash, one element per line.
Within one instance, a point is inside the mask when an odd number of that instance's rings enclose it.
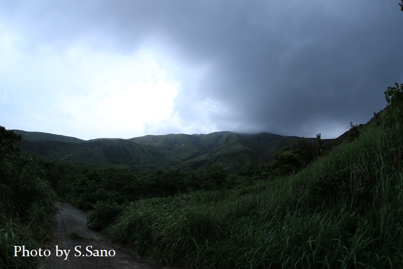
<path fill-rule="evenodd" d="M 36 268 L 36 257 L 14 257 L 14 245 L 37 249 L 45 243 L 56 213 L 40 160 L 24 154 L 20 140 L 0 126 L 0 268 Z"/>

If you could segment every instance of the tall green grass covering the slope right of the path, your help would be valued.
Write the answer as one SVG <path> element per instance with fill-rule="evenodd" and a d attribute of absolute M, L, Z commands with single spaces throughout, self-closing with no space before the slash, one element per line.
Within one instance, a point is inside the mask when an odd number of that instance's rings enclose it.
<path fill-rule="evenodd" d="M 374 125 L 295 176 L 134 202 L 108 234 L 187 268 L 403 268 L 401 131 Z"/>

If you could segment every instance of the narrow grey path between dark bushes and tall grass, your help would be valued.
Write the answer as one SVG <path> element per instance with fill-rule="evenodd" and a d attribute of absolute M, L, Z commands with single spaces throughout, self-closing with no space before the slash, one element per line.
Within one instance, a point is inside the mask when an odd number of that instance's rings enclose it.
<path fill-rule="evenodd" d="M 51 255 L 47 257 L 45 265 L 40 265 L 38 268 L 156 268 L 135 257 L 125 248 L 112 245 L 105 241 L 100 234 L 89 230 L 84 211 L 67 203 L 56 202 L 55 206 L 62 211 L 52 219 L 54 242 L 47 248 Z M 97 256 L 101 254 L 104 256 Z"/>

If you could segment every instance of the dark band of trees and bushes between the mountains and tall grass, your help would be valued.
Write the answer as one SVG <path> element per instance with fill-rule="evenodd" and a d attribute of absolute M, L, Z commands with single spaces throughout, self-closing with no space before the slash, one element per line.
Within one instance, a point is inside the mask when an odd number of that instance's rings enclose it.
<path fill-rule="evenodd" d="M 239 173 L 247 174 L 251 165 L 254 164 L 245 165 Z M 143 173 L 125 166 L 90 167 L 59 161 L 42 161 L 42 166 L 48 171 L 48 180 L 59 198 L 87 210 L 88 225 L 95 230 L 107 227 L 136 200 L 197 190 L 224 190 L 251 182 L 237 174 L 228 175 L 221 164 L 200 171 L 169 168 Z M 255 176 L 255 180 L 261 178 Z"/>

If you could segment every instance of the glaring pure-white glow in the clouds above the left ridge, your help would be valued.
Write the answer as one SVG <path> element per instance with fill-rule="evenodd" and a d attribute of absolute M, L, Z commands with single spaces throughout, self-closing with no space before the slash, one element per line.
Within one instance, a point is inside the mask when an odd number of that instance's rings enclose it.
<path fill-rule="evenodd" d="M 91 137 L 145 135 L 146 128 L 169 121 L 181 84 L 150 53 L 119 56 L 71 50 L 66 61 L 77 70 L 81 92 L 64 91 L 55 109 Z M 75 64 L 75 60 L 79 64 Z M 80 74 L 81 73 L 81 74 Z M 76 80 L 77 81 L 77 80 Z M 108 130 L 108 131 L 107 131 Z"/>

